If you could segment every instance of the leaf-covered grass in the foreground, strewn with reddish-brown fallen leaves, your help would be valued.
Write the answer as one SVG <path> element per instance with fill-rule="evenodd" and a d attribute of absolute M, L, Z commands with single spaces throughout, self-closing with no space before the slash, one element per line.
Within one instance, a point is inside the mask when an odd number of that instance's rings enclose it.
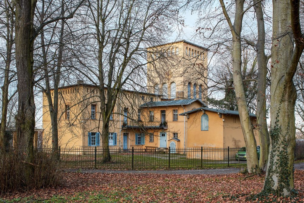
<path fill-rule="evenodd" d="M 56 189 L 20 191 L 0 196 L 4 202 L 304 202 L 304 171 L 295 171 L 296 198 L 257 194 L 264 177 L 240 181 L 244 175 L 151 173 L 64 173 Z"/>

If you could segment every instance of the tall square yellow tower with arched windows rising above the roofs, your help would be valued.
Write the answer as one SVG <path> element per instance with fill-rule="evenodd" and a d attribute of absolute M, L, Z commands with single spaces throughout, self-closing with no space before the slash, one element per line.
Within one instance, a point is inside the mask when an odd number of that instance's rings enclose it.
<path fill-rule="evenodd" d="M 147 86 L 162 100 L 206 97 L 208 49 L 186 40 L 148 47 Z"/>

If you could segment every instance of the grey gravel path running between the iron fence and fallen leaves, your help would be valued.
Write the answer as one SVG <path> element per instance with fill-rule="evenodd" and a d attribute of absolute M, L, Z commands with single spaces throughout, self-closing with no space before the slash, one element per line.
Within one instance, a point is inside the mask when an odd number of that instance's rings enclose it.
<path fill-rule="evenodd" d="M 295 169 L 304 170 L 303 163 L 295 163 Z M 69 172 L 79 172 L 79 170 L 68 170 Z M 205 169 L 205 170 L 81 170 L 81 173 L 156 173 L 156 174 L 231 174 L 239 173 L 239 168 L 228 169 Z"/>

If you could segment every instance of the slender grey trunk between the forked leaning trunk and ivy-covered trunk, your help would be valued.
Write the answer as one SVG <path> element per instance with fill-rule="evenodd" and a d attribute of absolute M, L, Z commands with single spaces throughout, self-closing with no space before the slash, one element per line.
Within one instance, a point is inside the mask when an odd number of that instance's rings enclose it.
<path fill-rule="evenodd" d="M 265 26 L 261 2 L 254 0 L 254 9 L 257 15 L 257 134 L 260 139 L 260 168 L 266 171 L 269 153 L 269 134 L 266 121 L 266 77 L 268 57 L 265 55 Z"/>

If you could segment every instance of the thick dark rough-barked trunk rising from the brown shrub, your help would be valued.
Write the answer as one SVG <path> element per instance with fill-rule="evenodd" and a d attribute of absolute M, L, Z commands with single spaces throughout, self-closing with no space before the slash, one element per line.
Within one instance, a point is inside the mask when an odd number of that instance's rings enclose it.
<path fill-rule="evenodd" d="M 18 78 L 17 147 L 26 156 L 26 183 L 33 175 L 35 102 L 33 93 L 33 17 L 36 1 L 16 1 L 16 69 Z"/>

